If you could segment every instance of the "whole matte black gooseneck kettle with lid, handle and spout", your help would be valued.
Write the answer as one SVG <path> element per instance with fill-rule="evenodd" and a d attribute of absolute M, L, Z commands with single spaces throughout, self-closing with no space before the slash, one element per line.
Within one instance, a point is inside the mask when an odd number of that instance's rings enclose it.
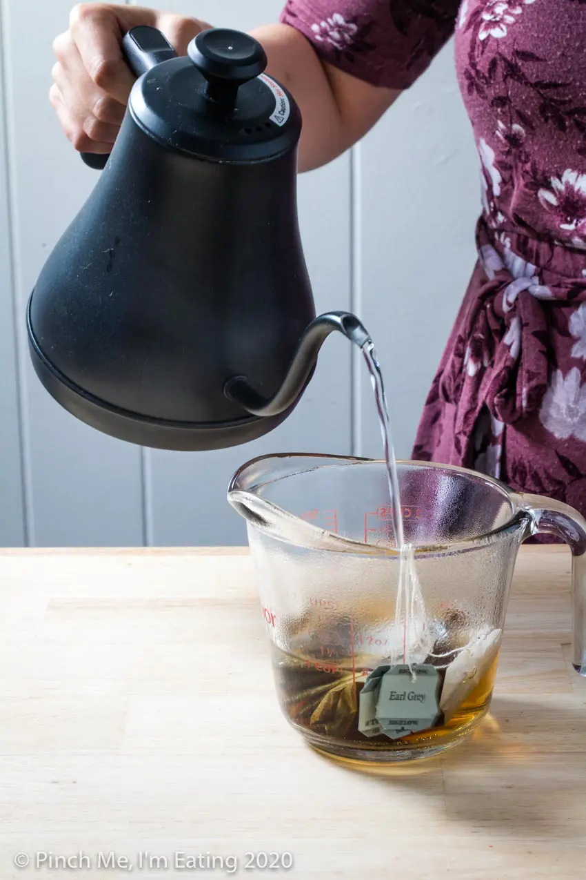
<path fill-rule="evenodd" d="M 212 29 L 177 57 L 135 27 L 140 77 L 96 187 L 27 307 L 41 382 L 83 422 L 172 450 L 246 443 L 282 422 L 322 341 L 297 221 L 301 118 L 264 49 Z"/>

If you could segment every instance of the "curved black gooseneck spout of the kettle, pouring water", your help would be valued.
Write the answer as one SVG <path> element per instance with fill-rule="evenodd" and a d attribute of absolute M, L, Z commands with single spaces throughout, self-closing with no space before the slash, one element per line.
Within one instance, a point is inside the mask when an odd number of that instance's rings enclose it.
<path fill-rule="evenodd" d="M 370 335 L 356 315 L 351 312 L 325 312 L 307 326 L 285 380 L 271 398 L 266 399 L 251 388 L 245 376 L 228 379 L 224 394 L 228 400 L 235 400 L 252 415 L 271 416 L 284 413 L 300 397 L 314 370 L 323 342 L 334 330 L 344 334 L 358 348 L 370 341 Z"/>

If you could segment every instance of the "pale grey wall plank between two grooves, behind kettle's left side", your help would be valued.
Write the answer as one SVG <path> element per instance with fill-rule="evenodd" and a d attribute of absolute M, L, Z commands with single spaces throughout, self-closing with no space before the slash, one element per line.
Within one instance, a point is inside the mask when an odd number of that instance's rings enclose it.
<path fill-rule="evenodd" d="M 26 350 L 26 299 L 49 249 L 95 180 L 63 143 L 47 100 L 51 44 L 67 26 L 70 6 L 70 0 L 4 4 L 4 121 L 27 537 L 36 546 L 136 545 L 145 533 L 141 450 L 100 436 L 61 411 L 35 377 Z"/>

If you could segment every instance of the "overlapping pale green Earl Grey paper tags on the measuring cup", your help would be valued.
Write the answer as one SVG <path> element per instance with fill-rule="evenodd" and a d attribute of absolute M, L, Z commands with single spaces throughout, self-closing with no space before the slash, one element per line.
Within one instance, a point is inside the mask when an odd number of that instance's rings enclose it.
<path fill-rule="evenodd" d="M 379 666 L 360 693 L 358 730 L 365 737 L 400 739 L 428 730 L 439 715 L 441 678 L 430 664 Z"/>

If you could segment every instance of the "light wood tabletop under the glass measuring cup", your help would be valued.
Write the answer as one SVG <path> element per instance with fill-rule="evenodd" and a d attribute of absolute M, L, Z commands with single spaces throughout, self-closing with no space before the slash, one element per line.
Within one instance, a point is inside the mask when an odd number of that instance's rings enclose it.
<path fill-rule="evenodd" d="M 3 551 L 0 877 L 125 876 L 98 867 L 115 852 L 145 878 L 584 880 L 569 566 L 564 547 L 521 551 L 481 730 L 366 774 L 280 715 L 244 551 Z M 141 869 L 144 851 L 168 868 Z M 176 851 L 239 870 L 176 870 Z M 293 868 L 245 870 L 250 851 L 290 852 Z M 82 852 L 91 868 L 17 869 L 18 852 Z"/>

